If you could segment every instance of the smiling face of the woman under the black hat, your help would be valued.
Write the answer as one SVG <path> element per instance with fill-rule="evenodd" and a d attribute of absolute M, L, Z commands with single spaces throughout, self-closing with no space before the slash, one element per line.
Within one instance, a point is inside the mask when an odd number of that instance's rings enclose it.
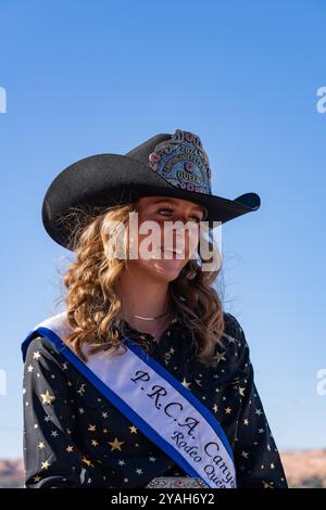
<path fill-rule="evenodd" d="M 143 196 L 136 208 L 138 230 L 135 235 L 130 229 L 129 242 L 137 257 L 129 267 L 165 282 L 175 280 L 197 252 L 203 208 L 168 196 Z"/>

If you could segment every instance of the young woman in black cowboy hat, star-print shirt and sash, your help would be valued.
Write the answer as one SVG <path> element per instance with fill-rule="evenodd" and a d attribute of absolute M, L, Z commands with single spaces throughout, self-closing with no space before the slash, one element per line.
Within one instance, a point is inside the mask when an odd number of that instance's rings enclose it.
<path fill-rule="evenodd" d="M 43 224 L 75 260 L 64 311 L 22 346 L 26 487 L 168 486 L 167 476 L 287 487 L 244 333 L 214 289 L 221 265 L 208 264 L 220 260 L 213 222 L 259 206 L 255 193 L 213 195 L 199 137 L 179 129 L 54 179 Z"/>

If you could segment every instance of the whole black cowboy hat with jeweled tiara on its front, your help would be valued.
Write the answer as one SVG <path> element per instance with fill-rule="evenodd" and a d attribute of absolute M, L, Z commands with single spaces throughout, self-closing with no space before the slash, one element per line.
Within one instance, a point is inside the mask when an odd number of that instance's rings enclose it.
<path fill-rule="evenodd" d="M 96 154 L 65 168 L 50 184 L 42 204 L 49 235 L 71 247 L 77 216 L 75 207 L 101 212 L 140 196 L 184 199 L 205 209 L 206 221 L 225 224 L 259 209 L 260 196 L 244 193 L 235 200 L 213 195 L 211 169 L 200 138 L 176 129 L 156 135 L 126 154 Z"/>

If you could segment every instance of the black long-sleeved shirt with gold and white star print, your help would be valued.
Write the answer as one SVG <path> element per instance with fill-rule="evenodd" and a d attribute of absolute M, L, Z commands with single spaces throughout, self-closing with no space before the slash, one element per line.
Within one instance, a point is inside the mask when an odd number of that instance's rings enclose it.
<path fill-rule="evenodd" d="M 286 488 L 244 333 L 233 315 L 224 320 L 228 337 L 214 368 L 192 359 L 191 334 L 178 315 L 159 343 L 124 324 L 218 420 L 234 451 L 237 486 Z M 133 488 L 155 476 L 187 475 L 38 333 L 27 349 L 23 400 L 27 488 Z"/>

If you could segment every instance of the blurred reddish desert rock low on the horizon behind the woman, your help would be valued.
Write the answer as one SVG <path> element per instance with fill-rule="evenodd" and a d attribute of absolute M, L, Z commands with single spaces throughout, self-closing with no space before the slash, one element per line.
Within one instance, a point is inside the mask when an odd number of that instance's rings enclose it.
<path fill-rule="evenodd" d="M 288 484 L 292 488 L 326 488 L 326 448 L 280 451 Z M 23 487 L 23 462 L 0 460 L 0 487 Z"/>

